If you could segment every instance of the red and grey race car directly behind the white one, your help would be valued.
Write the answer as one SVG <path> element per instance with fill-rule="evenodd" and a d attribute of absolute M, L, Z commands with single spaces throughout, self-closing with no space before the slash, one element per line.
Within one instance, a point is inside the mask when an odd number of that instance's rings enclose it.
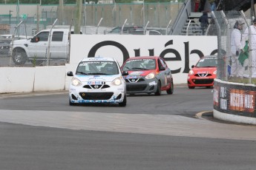
<path fill-rule="evenodd" d="M 128 58 L 122 64 L 122 72 L 126 81 L 127 93 L 147 93 L 151 95 L 161 95 L 166 91 L 168 95 L 174 92 L 174 81 L 171 69 L 159 56 L 145 56 Z"/>

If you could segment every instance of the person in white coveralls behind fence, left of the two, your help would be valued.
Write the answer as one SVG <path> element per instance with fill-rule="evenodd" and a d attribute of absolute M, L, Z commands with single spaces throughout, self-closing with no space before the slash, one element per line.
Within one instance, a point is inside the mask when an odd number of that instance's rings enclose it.
<path fill-rule="evenodd" d="M 238 20 L 234 23 L 234 29 L 231 33 L 231 75 L 230 77 L 239 77 L 243 78 L 243 69 L 244 67 L 241 65 L 238 57 L 240 52 L 243 51 L 243 44 L 242 44 L 242 30 L 243 30 L 243 21 Z"/>

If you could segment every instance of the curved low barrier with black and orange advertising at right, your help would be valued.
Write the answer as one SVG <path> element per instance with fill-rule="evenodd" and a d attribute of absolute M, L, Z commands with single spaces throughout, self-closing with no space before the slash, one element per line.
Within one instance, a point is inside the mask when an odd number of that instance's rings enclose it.
<path fill-rule="evenodd" d="M 256 86 L 214 80 L 214 118 L 256 124 Z"/>

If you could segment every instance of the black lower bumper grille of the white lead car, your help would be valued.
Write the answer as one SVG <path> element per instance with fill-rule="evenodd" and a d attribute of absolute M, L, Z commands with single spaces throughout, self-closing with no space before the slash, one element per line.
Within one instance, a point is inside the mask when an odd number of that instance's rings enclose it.
<path fill-rule="evenodd" d="M 79 92 L 84 100 L 109 100 L 114 92 Z"/>

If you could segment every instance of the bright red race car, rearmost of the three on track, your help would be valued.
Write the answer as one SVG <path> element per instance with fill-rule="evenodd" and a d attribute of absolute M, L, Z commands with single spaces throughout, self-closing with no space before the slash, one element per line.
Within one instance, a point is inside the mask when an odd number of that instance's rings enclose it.
<path fill-rule="evenodd" d="M 214 86 L 214 78 L 217 75 L 217 55 L 207 55 L 192 65 L 188 72 L 188 88 L 196 86 Z"/>

